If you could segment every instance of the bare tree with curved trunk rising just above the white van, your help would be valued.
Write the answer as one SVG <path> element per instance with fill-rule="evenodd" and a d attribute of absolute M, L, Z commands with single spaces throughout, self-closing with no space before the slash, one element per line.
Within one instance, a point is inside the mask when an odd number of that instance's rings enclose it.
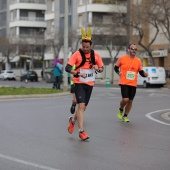
<path fill-rule="evenodd" d="M 148 53 L 153 65 L 152 44 L 159 33 L 157 17 L 158 13 L 155 13 L 155 9 L 151 8 L 150 1 L 147 1 L 146 3 L 133 5 L 131 8 L 131 22 L 124 22 L 126 26 L 132 28 L 132 36 L 137 39 L 138 44 Z M 152 36 L 149 36 L 150 33 L 152 33 Z"/>

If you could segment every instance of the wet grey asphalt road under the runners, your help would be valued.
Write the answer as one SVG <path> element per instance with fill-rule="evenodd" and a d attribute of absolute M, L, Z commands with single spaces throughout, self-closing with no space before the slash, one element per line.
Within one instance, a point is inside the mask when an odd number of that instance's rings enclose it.
<path fill-rule="evenodd" d="M 169 170 L 169 90 L 138 89 L 124 123 L 116 117 L 120 89 L 94 87 L 86 142 L 77 126 L 67 132 L 71 100 L 0 99 L 0 170 Z"/>

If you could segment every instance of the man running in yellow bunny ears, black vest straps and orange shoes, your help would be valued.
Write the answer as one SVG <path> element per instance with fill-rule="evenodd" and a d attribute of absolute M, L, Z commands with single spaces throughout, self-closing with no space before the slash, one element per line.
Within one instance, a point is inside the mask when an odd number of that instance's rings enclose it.
<path fill-rule="evenodd" d="M 83 64 L 82 64 L 83 63 Z M 75 64 L 76 69 L 72 67 Z M 75 84 L 75 95 L 78 103 L 78 109 L 74 117 L 69 118 L 68 132 L 74 131 L 76 121 L 79 127 L 79 137 L 86 140 L 89 136 L 84 131 L 84 111 L 89 103 L 92 89 L 95 82 L 95 72 L 103 71 L 103 62 L 100 55 L 92 50 L 91 29 L 88 29 L 87 34 L 82 28 L 82 47 L 76 51 L 69 59 L 65 70 L 74 75 L 73 81 Z"/>

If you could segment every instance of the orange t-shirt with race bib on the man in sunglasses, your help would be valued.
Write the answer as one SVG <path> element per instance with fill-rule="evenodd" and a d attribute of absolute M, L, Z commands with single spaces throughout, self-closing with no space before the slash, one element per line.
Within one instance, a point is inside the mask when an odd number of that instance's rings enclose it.
<path fill-rule="evenodd" d="M 142 62 L 136 56 L 130 58 L 129 55 L 121 56 L 116 62 L 122 73 L 119 79 L 119 85 L 137 86 L 138 72 L 142 70 Z"/>

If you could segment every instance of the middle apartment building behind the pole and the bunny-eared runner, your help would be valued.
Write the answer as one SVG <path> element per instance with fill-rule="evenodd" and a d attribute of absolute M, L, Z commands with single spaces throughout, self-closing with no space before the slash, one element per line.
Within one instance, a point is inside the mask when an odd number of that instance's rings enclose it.
<path fill-rule="evenodd" d="M 125 29 L 118 28 L 117 30 L 112 31 L 109 24 L 113 21 L 113 15 L 116 16 L 119 13 L 127 13 L 127 1 L 126 0 L 69 0 L 69 32 L 77 34 L 77 40 L 72 39 L 70 46 L 70 51 L 75 51 L 80 47 L 81 38 L 81 28 L 91 27 L 93 30 L 93 41 L 95 43 L 94 49 L 102 56 L 105 66 L 105 72 L 98 75 L 103 78 L 111 77 L 111 56 L 109 51 L 106 49 L 106 44 L 109 46 L 112 57 L 117 54 L 117 51 L 120 46 L 122 46 L 121 41 L 127 36 Z M 55 39 L 56 44 L 60 39 L 59 34 L 63 35 L 64 33 L 64 1 L 47 1 L 47 11 L 45 14 L 45 19 L 47 21 L 47 30 L 46 30 L 46 40 Z M 118 22 L 118 21 L 116 21 Z M 116 25 L 117 23 L 115 23 Z M 113 26 L 113 24 L 112 24 Z M 121 31 L 120 31 L 121 30 Z M 113 32 L 115 34 L 113 34 Z M 119 34 L 120 33 L 120 34 Z M 112 34 L 113 39 L 110 38 Z M 116 36 L 117 34 L 117 36 Z M 119 35 L 118 35 L 119 34 Z M 116 38 L 115 38 L 116 37 Z M 116 41 L 115 41 L 116 39 Z M 73 43 L 74 42 L 74 43 Z M 78 46 L 76 44 L 78 43 Z M 106 44 L 104 44 L 106 43 Z M 73 50 L 74 49 L 74 50 Z M 50 64 L 50 60 L 55 58 L 56 50 L 54 48 L 48 48 L 45 54 L 46 63 Z M 119 50 L 119 57 L 126 52 L 126 44 L 122 46 Z M 59 58 L 63 58 L 63 50 L 58 53 Z M 48 65 L 46 64 L 46 66 Z M 107 71 L 106 71 L 107 70 Z"/>

